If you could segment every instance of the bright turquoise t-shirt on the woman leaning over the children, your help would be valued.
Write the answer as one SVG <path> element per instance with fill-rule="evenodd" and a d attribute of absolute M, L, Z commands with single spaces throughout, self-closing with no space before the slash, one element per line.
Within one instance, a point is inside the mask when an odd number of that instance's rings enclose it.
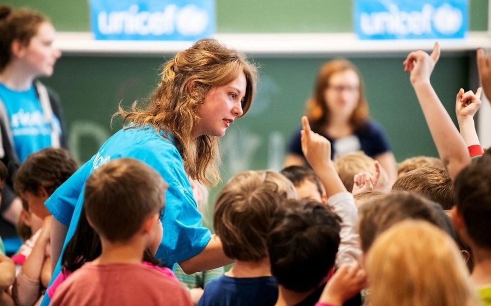
<path fill-rule="evenodd" d="M 85 181 L 97 167 L 112 159 L 123 157 L 135 158 L 148 164 L 168 184 L 162 217 L 164 235 L 156 257 L 172 268 L 174 263 L 200 253 L 210 241 L 211 233 L 201 223 L 201 214 L 193 197 L 182 158 L 170 140 L 158 135 L 149 127 L 122 129 L 116 132 L 90 161 L 80 167 L 46 200 L 44 204 L 53 217 L 69 226 L 64 250 L 77 227 L 83 207 Z M 59 271 L 60 260 L 51 281 Z M 41 305 L 48 303 L 49 298 L 45 295 Z"/>

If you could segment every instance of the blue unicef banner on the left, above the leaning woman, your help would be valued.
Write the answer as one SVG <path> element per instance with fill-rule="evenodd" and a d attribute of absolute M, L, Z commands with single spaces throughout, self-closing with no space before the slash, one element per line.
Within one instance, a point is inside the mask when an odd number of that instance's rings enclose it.
<path fill-rule="evenodd" d="M 215 32 L 214 0 L 89 0 L 96 39 L 198 40 Z"/>

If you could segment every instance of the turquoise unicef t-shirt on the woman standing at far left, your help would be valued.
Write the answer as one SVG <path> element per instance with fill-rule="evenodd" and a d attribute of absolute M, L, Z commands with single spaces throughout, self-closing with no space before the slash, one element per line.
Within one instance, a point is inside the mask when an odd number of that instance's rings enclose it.
<path fill-rule="evenodd" d="M 16 91 L 0 83 L 0 98 L 4 102 L 14 139 L 14 150 L 21 163 L 31 153 L 51 146 L 51 131 L 61 133 L 59 119 L 44 118 L 41 102 L 34 85 L 27 91 Z"/>

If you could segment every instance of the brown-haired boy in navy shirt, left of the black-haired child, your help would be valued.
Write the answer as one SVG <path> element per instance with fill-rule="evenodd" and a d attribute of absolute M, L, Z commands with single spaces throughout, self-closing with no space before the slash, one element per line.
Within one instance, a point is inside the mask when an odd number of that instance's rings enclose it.
<path fill-rule="evenodd" d="M 273 215 L 296 197 L 293 184 L 272 171 L 246 171 L 220 191 L 213 225 L 233 267 L 210 281 L 198 305 L 273 305 L 278 296 L 266 239 Z"/>

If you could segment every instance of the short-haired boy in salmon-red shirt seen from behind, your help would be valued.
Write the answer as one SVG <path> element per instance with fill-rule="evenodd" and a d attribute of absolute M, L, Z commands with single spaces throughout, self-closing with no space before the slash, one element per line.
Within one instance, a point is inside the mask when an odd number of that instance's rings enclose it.
<path fill-rule="evenodd" d="M 92 173 L 83 209 L 102 253 L 58 287 L 52 305 L 191 305 L 176 280 L 142 264 L 161 226 L 166 188 L 155 170 L 135 159 L 116 159 Z"/>

